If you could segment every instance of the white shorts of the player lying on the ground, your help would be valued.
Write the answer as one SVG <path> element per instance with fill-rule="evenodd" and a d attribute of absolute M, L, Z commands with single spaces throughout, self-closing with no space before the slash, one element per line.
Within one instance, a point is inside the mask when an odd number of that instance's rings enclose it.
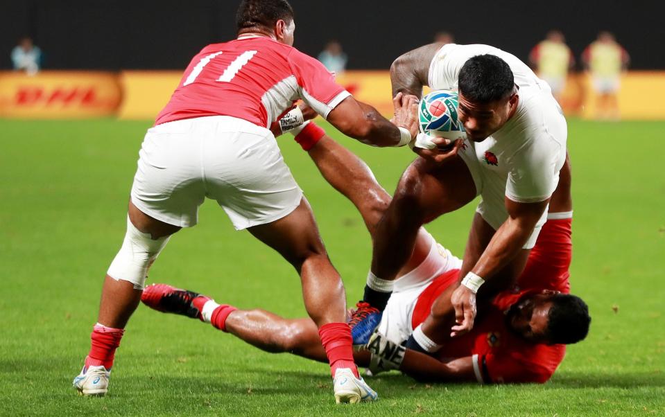
<path fill-rule="evenodd" d="M 401 343 L 411 336 L 413 309 L 425 288 L 437 276 L 462 267 L 460 258 L 438 244 L 432 236 L 430 239 L 429 254 L 415 269 L 395 280 L 388 305 L 383 310 L 379 332 L 396 343 Z"/>

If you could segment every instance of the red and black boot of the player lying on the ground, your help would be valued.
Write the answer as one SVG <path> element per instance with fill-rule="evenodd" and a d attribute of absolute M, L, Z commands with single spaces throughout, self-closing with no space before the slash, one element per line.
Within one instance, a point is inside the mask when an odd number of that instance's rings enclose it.
<path fill-rule="evenodd" d="M 141 294 L 141 301 L 154 310 L 200 320 L 202 320 L 201 308 L 208 300 L 207 296 L 202 296 L 198 292 L 182 290 L 169 284 L 148 285 Z"/>

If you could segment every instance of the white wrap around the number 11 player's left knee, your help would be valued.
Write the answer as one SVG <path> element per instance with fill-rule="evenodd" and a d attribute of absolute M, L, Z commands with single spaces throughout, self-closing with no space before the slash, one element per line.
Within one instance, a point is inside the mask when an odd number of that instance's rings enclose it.
<path fill-rule="evenodd" d="M 169 238 L 171 236 L 150 238 L 150 233 L 141 233 L 128 216 L 125 240 L 107 271 L 108 276 L 116 281 L 129 281 L 137 290 L 143 290 L 148 269 L 164 249 L 166 242 L 169 242 Z"/>

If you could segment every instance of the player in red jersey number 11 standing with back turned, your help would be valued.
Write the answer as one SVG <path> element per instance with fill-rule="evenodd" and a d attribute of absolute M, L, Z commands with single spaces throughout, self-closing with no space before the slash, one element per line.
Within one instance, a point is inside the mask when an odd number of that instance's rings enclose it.
<path fill-rule="evenodd" d="M 125 240 L 107 271 L 92 346 L 74 379 L 84 395 L 107 392 L 114 353 L 148 268 L 173 233 L 196 224 L 207 197 L 216 199 L 236 229 L 248 229 L 300 274 L 336 401 L 377 398 L 353 362 L 342 281 L 269 127 L 302 123 L 298 109 L 287 113 L 302 99 L 363 143 L 406 145 L 417 132 L 415 101 L 402 101 L 404 117 L 393 124 L 354 100 L 320 62 L 293 48 L 293 9 L 286 0 L 243 0 L 236 25 L 237 39 L 206 46 L 193 57 L 145 136 Z"/>

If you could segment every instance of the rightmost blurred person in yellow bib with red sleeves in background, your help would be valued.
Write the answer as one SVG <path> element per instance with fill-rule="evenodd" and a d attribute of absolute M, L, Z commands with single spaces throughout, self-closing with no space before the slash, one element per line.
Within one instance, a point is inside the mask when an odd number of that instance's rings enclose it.
<path fill-rule="evenodd" d="M 603 31 L 598 38 L 585 48 L 582 62 L 591 73 L 596 90 L 598 118 L 619 118 L 619 103 L 616 99 L 621 85 L 621 72 L 628 69 L 630 57 L 623 46 L 616 43 L 612 33 Z"/>

